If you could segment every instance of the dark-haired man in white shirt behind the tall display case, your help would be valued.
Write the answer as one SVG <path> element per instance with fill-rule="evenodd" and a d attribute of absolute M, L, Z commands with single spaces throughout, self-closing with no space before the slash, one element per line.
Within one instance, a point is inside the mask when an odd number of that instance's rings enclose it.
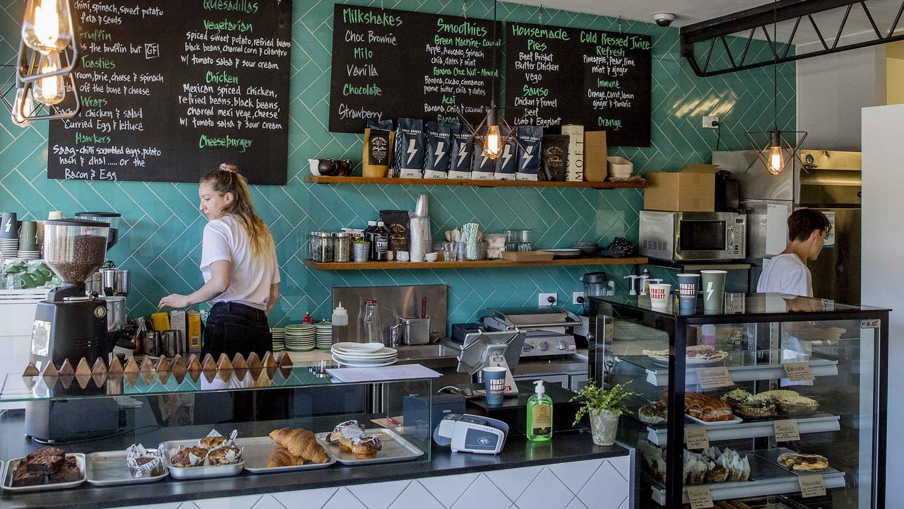
<path fill-rule="evenodd" d="M 828 218 L 812 208 L 802 208 L 788 216 L 788 245 L 763 267 L 757 292 L 812 297 L 813 281 L 806 261 L 819 256 L 831 228 Z"/>

